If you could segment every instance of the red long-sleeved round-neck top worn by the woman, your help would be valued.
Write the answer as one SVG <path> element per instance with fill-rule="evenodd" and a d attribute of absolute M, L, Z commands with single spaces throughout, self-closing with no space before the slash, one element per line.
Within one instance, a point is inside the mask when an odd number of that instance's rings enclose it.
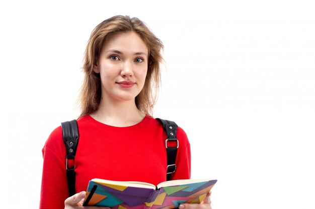
<path fill-rule="evenodd" d="M 87 189 L 89 180 L 166 181 L 166 133 L 153 118 L 145 117 L 128 127 L 114 127 L 90 115 L 77 121 L 80 132 L 75 154 L 75 190 Z M 179 148 L 172 179 L 190 178 L 190 144 L 186 133 L 177 129 Z M 43 175 L 40 208 L 64 208 L 69 196 L 65 169 L 65 145 L 61 126 L 48 137 L 43 148 Z"/>

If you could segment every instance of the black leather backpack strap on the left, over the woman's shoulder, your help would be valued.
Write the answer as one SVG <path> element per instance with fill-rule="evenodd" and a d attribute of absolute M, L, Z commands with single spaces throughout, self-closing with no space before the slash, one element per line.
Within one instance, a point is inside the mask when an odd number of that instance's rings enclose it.
<path fill-rule="evenodd" d="M 75 194 L 75 162 L 73 167 L 69 167 L 68 159 L 74 159 L 76 147 L 78 143 L 78 128 L 76 120 L 66 121 L 61 123 L 62 137 L 66 148 L 66 170 L 69 187 L 69 195 Z"/>

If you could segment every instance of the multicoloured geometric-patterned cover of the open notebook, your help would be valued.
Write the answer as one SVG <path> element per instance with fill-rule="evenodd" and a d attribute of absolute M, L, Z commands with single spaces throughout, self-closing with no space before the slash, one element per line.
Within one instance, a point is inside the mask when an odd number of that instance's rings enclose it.
<path fill-rule="evenodd" d="M 200 203 L 215 182 L 165 186 L 157 191 L 150 188 L 124 186 L 122 189 L 121 186 L 97 184 L 88 205 L 107 205 L 111 209 L 171 209 L 184 202 Z"/>

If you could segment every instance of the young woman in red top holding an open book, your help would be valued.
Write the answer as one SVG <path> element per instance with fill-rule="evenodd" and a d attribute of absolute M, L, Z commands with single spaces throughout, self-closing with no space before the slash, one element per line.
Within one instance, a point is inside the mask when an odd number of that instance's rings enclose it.
<path fill-rule="evenodd" d="M 43 148 L 40 208 L 102 208 L 82 206 L 92 178 L 155 185 L 166 181 L 167 136 L 151 116 L 160 85 L 161 50 L 162 42 L 137 18 L 115 16 L 93 30 L 85 52 L 82 113 L 77 120 L 77 193 L 69 197 L 66 150 L 58 127 Z M 171 179 L 188 179 L 190 144 L 181 128 L 177 138 L 177 169 Z M 180 208 L 211 209 L 210 193 L 201 204 Z"/>

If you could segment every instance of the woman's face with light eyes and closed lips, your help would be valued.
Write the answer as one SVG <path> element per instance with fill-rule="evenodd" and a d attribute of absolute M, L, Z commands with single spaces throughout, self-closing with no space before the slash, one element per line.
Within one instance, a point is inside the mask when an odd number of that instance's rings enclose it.
<path fill-rule="evenodd" d="M 130 101 L 143 88 L 148 66 L 148 49 L 135 32 L 110 36 L 103 46 L 94 72 L 100 73 L 105 101 Z"/>

